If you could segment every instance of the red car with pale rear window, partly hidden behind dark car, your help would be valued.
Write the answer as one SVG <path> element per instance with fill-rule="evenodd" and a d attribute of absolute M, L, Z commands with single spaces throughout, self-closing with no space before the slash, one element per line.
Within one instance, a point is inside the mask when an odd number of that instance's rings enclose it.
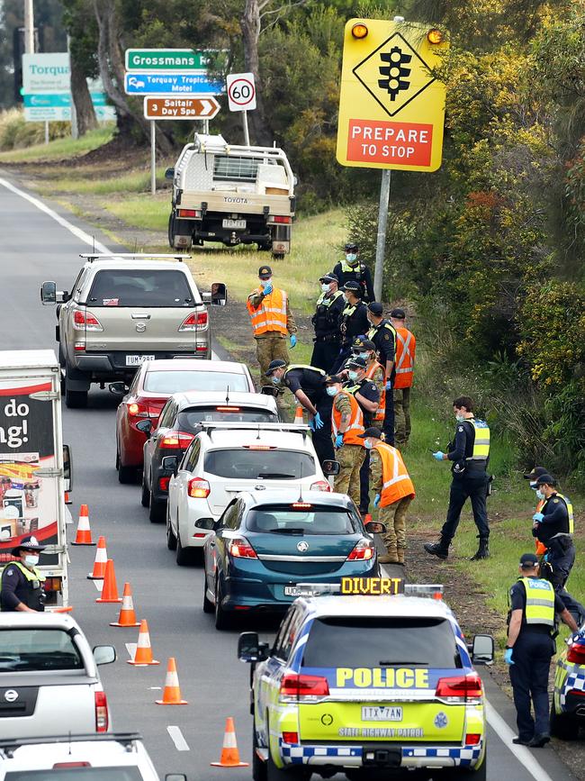
<path fill-rule="evenodd" d="M 125 394 L 116 413 L 116 469 L 121 483 L 136 482 L 142 468 L 146 435 L 136 424 L 145 418 L 154 424 L 169 396 L 192 390 L 256 392 L 247 366 L 228 360 L 148 360 L 129 389 L 122 382 L 109 387 L 113 394 Z"/>

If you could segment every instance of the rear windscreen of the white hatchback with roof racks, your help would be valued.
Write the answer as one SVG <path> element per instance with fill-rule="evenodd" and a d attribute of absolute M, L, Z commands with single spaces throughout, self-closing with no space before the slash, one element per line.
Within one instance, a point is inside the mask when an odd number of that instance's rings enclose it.
<path fill-rule="evenodd" d="M 210 450 L 204 470 L 231 480 L 299 480 L 315 474 L 315 461 L 298 450 Z"/>

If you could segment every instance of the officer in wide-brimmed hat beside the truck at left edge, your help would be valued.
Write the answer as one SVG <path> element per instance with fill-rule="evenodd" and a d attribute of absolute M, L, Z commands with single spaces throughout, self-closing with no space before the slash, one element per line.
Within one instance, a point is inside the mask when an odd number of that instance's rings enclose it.
<path fill-rule="evenodd" d="M 0 605 L 3 611 L 39 613 L 44 611 L 42 582 L 45 579 L 37 569 L 39 554 L 44 550 L 35 537 L 24 537 L 12 554 L 18 561 L 11 561 L 2 573 Z"/>

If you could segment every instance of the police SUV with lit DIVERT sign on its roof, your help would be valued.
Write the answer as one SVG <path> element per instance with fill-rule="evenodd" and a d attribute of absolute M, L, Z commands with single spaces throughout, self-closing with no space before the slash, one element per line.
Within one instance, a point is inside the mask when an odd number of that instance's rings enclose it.
<path fill-rule="evenodd" d="M 389 595 L 397 582 L 346 578 L 344 595 L 318 596 L 323 587 L 307 585 L 313 596 L 293 603 L 272 649 L 240 635 L 238 657 L 253 665 L 255 781 L 417 768 L 486 778 L 473 663 L 491 663 L 493 640 L 477 635 L 468 648 L 441 586 Z"/>

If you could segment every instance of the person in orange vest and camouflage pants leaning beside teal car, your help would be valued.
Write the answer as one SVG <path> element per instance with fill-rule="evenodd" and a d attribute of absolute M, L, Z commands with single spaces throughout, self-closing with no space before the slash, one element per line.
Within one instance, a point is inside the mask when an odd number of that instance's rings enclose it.
<path fill-rule="evenodd" d="M 386 526 L 386 553 L 381 564 L 404 564 L 406 516 L 415 497 L 414 486 L 400 450 L 382 440 L 382 431 L 371 426 L 360 435 L 370 451 L 370 485 L 376 492 L 374 507 L 380 507 L 378 521 Z"/>

